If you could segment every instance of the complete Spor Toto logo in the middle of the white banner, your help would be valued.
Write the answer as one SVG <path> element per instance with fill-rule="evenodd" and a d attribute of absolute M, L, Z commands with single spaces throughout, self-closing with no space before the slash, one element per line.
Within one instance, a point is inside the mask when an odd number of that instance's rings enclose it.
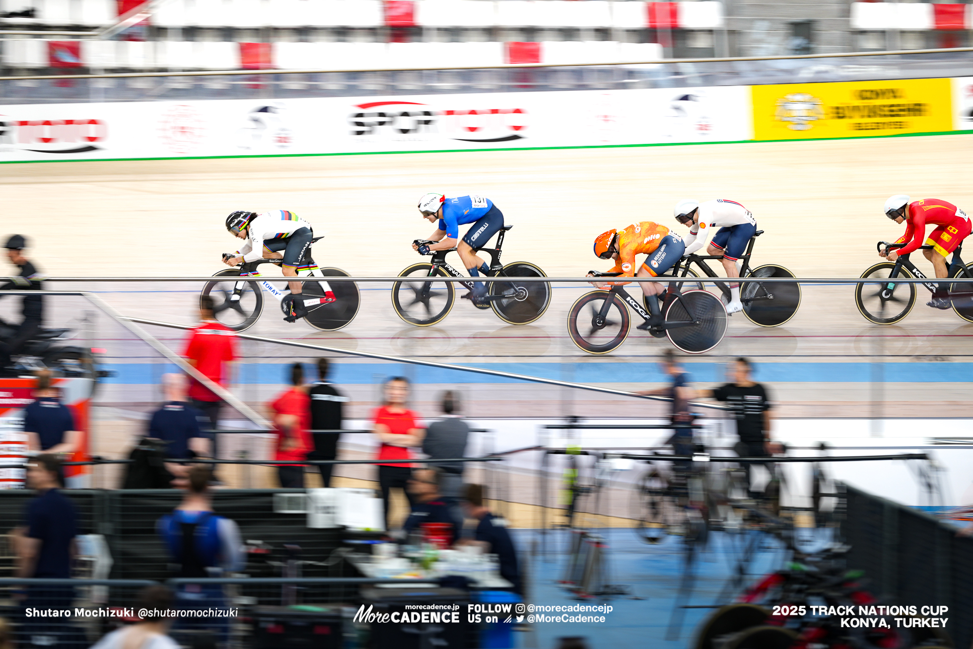
<path fill-rule="evenodd" d="M 348 121 L 355 136 L 438 133 L 460 142 L 510 142 L 526 137 L 523 108 L 440 110 L 414 101 L 373 101 L 355 106 Z"/>

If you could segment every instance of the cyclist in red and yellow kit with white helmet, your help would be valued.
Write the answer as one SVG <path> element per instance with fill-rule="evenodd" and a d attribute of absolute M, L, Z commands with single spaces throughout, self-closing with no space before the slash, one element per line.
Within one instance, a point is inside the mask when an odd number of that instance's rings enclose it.
<path fill-rule="evenodd" d="M 922 245 L 926 225 L 939 226 L 925 239 L 925 244 L 931 245 L 932 249 L 923 250 L 922 254 L 932 262 L 936 277 L 944 279 L 950 275 L 946 256 L 952 254 L 959 242 L 970 234 L 970 217 L 953 203 L 939 198 L 923 198 L 910 202 L 911 200 L 905 194 L 896 194 L 885 201 L 885 216 L 899 225 L 903 221 L 907 222 L 906 233 L 895 242 L 908 243 L 898 250 L 882 250 L 879 255 L 895 262 L 902 255 L 907 255 Z M 932 300 L 925 304 L 933 308 L 950 308 L 949 282 L 939 282 L 938 288 L 932 294 Z"/>

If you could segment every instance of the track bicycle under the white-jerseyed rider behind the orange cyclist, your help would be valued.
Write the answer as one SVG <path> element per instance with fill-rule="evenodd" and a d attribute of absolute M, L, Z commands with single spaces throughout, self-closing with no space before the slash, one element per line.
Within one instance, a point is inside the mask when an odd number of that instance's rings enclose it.
<path fill-rule="evenodd" d="M 794 273 L 777 264 L 765 264 L 751 270 L 750 254 L 757 237 L 764 234 L 758 230 L 750 238 L 746 252 L 740 257 L 742 265 L 739 269 L 740 277 L 794 277 Z M 663 277 L 720 277 L 706 264 L 707 260 L 723 259 L 722 255 L 691 254 L 680 260 L 675 266 L 664 273 Z M 696 266 L 703 271 L 703 275 L 693 270 Z M 693 288 L 703 289 L 703 282 L 687 282 Z M 713 282 L 723 294 L 723 303 L 730 302 L 729 280 Z M 679 285 L 680 287 L 682 284 Z M 801 306 L 801 284 L 798 282 L 742 282 L 739 288 L 739 301 L 743 303 L 743 314 L 755 325 L 761 327 L 777 327 L 794 317 Z"/>

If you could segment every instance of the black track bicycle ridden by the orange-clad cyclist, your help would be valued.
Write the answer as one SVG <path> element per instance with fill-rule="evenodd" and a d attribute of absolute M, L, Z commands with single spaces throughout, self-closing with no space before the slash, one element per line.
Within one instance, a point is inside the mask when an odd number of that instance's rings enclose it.
<path fill-rule="evenodd" d="M 595 277 L 615 277 L 620 272 L 591 271 Z M 578 298 L 567 313 L 567 333 L 578 347 L 590 354 L 607 354 L 629 337 L 631 315 L 626 305 L 649 319 L 648 306 L 631 297 L 625 287 L 597 289 Z M 701 354 L 719 344 L 727 332 L 727 309 L 712 293 L 700 289 L 682 292 L 669 283 L 662 306 L 663 324 L 653 326 L 654 338 L 667 337 L 677 349 Z"/>

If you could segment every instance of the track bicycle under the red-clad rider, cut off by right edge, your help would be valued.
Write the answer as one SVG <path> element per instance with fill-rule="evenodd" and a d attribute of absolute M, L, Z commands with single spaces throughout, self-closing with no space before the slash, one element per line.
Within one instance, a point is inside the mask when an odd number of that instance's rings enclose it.
<path fill-rule="evenodd" d="M 877 248 L 882 252 L 894 250 L 907 245 L 906 243 L 888 243 L 879 241 Z M 931 245 L 919 246 L 921 250 L 931 250 Z M 959 253 L 962 244 L 957 245 L 953 251 L 953 260 L 950 263 L 950 277 L 973 277 L 973 264 L 964 264 Z M 886 253 L 887 254 L 887 253 Z M 926 279 L 922 271 L 909 260 L 912 253 L 902 255 L 894 262 L 882 262 L 876 264 L 865 272 L 861 273 L 863 279 L 876 279 L 876 283 L 858 284 L 855 286 L 854 301 L 858 305 L 858 310 L 865 316 L 865 319 L 875 324 L 894 324 L 909 315 L 913 306 L 916 306 L 916 284 L 900 284 L 892 281 L 896 277 L 908 277 Z M 942 281 L 934 277 L 929 277 L 930 281 L 922 282 L 930 293 L 936 292 L 936 283 Z M 955 282 L 950 285 L 950 302 L 956 315 L 973 322 L 973 283 Z"/>

